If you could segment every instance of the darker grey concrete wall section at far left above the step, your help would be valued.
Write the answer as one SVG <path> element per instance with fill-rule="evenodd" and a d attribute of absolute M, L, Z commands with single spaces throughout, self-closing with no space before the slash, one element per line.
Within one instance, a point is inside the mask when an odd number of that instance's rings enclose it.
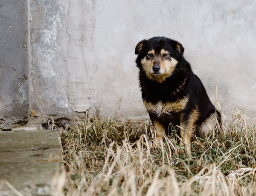
<path fill-rule="evenodd" d="M 0 130 L 29 115 L 26 12 L 26 0 L 0 1 Z"/>

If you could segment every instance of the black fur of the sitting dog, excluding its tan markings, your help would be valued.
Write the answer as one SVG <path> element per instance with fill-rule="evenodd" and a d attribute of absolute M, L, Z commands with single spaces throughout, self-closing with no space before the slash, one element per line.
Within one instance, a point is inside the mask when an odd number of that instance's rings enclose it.
<path fill-rule="evenodd" d="M 157 82 L 148 78 L 148 75 L 143 69 L 142 59 L 148 54 L 148 51 L 154 50 L 156 54 L 160 54 L 161 49 L 169 52 L 170 57 L 177 60 L 177 65 L 172 74 L 163 82 Z M 178 102 L 183 98 L 188 98 L 186 107 L 181 111 L 172 111 L 163 113 L 158 116 L 152 111 L 148 111 L 151 121 L 163 125 L 165 133 L 170 130 L 170 123 L 174 126 L 188 124 L 191 121 L 192 111 L 197 111 L 197 116 L 194 119 L 193 136 L 203 137 L 204 132 L 200 130 L 202 123 L 212 114 L 215 113 L 218 123 L 221 123 L 220 112 L 215 110 L 201 80 L 192 72 L 190 64 L 183 57 L 183 46 L 172 39 L 166 37 L 153 37 L 149 40 L 142 40 L 135 49 L 137 54 L 137 67 L 139 71 L 139 80 L 143 101 L 153 105 L 161 101 L 163 104 Z M 147 59 L 147 57 L 146 57 Z M 187 129 L 188 127 L 183 127 Z M 193 137 L 195 138 L 195 137 Z"/>

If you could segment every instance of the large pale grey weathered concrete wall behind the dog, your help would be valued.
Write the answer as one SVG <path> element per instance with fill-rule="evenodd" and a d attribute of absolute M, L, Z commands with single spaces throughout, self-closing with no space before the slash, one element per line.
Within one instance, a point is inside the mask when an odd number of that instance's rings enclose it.
<path fill-rule="evenodd" d="M 30 109 L 47 119 L 147 117 L 136 44 L 166 36 L 225 114 L 256 112 L 256 1 L 30 0 Z M 147 117 L 148 118 L 148 117 Z"/>

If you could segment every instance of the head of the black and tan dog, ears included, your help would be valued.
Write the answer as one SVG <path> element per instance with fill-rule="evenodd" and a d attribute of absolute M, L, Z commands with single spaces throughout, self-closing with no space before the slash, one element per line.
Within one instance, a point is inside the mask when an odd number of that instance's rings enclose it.
<path fill-rule="evenodd" d="M 183 46 L 166 37 L 153 37 L 140 41 L 136 48 L 137 66 L 142 66 L 147 77 L 162 83 L 172 75 L 178 61 L 183 58 Z"/>

